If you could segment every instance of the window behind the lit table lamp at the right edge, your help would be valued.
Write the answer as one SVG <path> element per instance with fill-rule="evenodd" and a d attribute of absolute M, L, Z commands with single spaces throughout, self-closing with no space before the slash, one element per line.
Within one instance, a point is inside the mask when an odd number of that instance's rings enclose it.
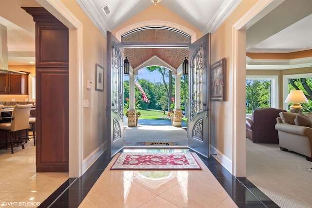
<path fill-rule="evenodd" d="M 300 75 L 285 75 L 283 76 L 283 100 L 292 90 L 302 90 L 306 95 L 309 103 L 300 103 L 303 107 L 303 112 L 312 112 L 312 74 L 300 74 Z M 289 109 L 293 103 L 284 103 L 283 108 Z"/>

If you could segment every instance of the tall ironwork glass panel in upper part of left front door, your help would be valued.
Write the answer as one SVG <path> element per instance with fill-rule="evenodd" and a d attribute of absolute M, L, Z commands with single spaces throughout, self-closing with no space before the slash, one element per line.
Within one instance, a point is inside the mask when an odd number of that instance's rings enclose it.
<path fill-rule="evenodd" d="M 114 41 L 112 53 L 112 111 L 123 115 L 123 58 L 118 45 Z"/>

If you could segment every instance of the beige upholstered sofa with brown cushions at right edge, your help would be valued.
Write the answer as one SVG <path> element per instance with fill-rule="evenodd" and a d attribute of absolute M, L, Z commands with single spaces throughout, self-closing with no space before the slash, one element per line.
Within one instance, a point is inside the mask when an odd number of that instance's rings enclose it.
<path fill-rule="evenodd" d="M 312 162 L 312 113 L 280 113 L 276 118 L 281 151 L 294 151 Z"/>

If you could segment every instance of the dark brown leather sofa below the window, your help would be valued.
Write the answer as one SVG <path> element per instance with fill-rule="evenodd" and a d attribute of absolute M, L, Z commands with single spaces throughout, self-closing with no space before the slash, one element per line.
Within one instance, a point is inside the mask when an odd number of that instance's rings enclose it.
<path fill-rule="evenodd" d="M 261 108 L 246 117 L 246 137 L 254 143 L 278 144 L 278 133 L 275 129 L 276 118 L 283 109 Z"/>

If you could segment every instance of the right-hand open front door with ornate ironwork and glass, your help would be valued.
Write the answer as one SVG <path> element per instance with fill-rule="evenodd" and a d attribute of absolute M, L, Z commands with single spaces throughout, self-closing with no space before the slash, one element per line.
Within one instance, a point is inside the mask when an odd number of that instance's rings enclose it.
<path fill-rule="evenodd" d="M 189 148 L 210 155 L 210 34 L 189 48 L 189 103 L 187 137 Z"/>

